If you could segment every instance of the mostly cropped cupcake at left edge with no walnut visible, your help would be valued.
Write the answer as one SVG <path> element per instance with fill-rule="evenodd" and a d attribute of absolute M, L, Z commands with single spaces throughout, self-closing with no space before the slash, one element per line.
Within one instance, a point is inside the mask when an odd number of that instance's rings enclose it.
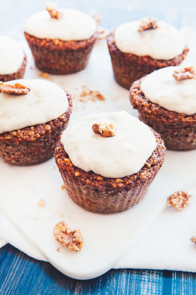
<path fill-rule="evenodd" d="M 26 67 L 26 55 L 19 44 L 0 35 L 0 81 L 22 79 Z"/>

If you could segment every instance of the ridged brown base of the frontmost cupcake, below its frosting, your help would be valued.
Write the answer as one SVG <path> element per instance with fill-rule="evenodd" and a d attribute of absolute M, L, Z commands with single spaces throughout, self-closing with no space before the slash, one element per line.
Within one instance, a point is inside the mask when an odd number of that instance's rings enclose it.
<path fill-rule="evenodd" d="M 54 158 L 71 199 L 82 208 L 99 213 L 121 212 L 137 204 L 164 161 L 164 142 L 153 133 L 157 140 L 155 151 L 138 173 L 123 178 L 106 178 L 75 167 L 59 139 Z"/>

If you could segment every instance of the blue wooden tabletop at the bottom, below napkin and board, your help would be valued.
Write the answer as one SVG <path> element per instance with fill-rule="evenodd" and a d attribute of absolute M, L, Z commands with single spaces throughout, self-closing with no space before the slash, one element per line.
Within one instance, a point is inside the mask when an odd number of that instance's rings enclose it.
<path fill-rule="evenodd" d="M 196 273 L 112 269 L 98 278 L 80 281 L 6 245 L 0 249 L 0 294 L 196 295 Z"/>

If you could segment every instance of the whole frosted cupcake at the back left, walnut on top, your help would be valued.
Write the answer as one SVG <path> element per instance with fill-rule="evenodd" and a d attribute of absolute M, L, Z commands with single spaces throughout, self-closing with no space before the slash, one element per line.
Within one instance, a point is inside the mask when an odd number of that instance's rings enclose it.
<path fill-rule="evenodd" d="M 86 68 L 97 24 L 92 17 L 74 9 L 46 6 L 29 17 L 24 35 L 39 70 L 71 74 Z"/>

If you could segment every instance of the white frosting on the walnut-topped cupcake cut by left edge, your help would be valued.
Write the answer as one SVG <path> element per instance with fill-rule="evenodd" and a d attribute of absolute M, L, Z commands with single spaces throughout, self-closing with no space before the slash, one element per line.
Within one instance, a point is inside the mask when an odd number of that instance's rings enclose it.
<path fill-rule="evenodd" d="M 0 133 L 44 124 L 64 114 L 69 106 L 65 91 L 57 84 L 41 79 L 20 79 L 30 88 L 26 95 L 0 92 Z"/>

